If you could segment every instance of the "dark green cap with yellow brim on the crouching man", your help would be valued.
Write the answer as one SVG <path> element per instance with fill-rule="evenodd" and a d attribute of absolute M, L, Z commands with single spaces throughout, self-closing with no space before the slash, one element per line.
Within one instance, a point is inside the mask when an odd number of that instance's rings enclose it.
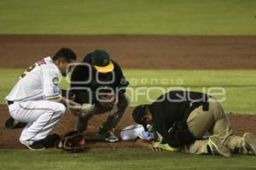
<path fill-rule="evenodd" d="M 91 64 L 95 66 L 96 71 L 107 73 L 113 71 L 113 63 L 109 59 L 109 54 L 102 50 L 102 49 L 96 49 L 91 54 Z"/>

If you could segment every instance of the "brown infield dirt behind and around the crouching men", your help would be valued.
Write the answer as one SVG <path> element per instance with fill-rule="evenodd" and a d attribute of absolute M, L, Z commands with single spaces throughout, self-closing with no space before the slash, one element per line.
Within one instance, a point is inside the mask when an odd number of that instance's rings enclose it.
<path fill-rule="evenodd" d="M 150 70 L 255 69 L 256 37 L 164 37 L 164 36 L 0 36 L 0 68 L 26 68 L 38 59 L 68 47 L 79 61 L 96 48 L 106 49 L 123 68 Z M 129 108 L 119 122 L 116 133 L 133 124 Z M 7 130 L 6 105 L 0 105 L 0 149 L 21 149 L 21 129 Z M 141 143 L 115 144 L 90 140 L 108 114 L 95 116 L 84 133 L 90 147 L 136 147 Z M 228 114 L 238 135 L 256 133 L 256 116 Z M 76 117 L 67 111 L 55 127 L 55 133 L 73 130 Z"/>

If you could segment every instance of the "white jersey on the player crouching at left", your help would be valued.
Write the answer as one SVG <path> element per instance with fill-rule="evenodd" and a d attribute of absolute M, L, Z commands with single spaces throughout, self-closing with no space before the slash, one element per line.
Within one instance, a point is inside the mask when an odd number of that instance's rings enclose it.
<path fill-rule="evenodd" d="M 61 71 L 50 57 L 46 57 L 26 69 L 5 99 L 29 101 L 56 98 L 60 95 L 60 80 Z"/>

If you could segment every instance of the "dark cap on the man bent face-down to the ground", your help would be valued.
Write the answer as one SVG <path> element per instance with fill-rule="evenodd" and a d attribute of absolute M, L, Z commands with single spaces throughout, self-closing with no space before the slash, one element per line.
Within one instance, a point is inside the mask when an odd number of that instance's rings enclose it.
<path fill-rule="evenodd" d="M 143 117 L 146 115 L 147 105 L 137 105 L 132 112 L 132 117 L 137 124 L 143 125 L 145 131 L 148 131 L 147 124 L 143 122 Z"/>

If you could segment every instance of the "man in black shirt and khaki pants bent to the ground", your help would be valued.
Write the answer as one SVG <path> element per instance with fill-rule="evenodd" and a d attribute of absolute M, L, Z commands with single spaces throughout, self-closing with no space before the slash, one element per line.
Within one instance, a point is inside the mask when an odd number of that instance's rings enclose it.
<path fill-rule="evenodd" d="M 217 99 L 190 91 L 171 91 L 151 105 L 138 105 L 133 119 L 153 126 L 159 136 L 154 150 L 181 150 L 192 154 L 230 157 L 232 153 L 256 155 L 256 138 L 232 132 L 228 117 Z M 205 135 L 209 135 L 206 136 Z"/>

